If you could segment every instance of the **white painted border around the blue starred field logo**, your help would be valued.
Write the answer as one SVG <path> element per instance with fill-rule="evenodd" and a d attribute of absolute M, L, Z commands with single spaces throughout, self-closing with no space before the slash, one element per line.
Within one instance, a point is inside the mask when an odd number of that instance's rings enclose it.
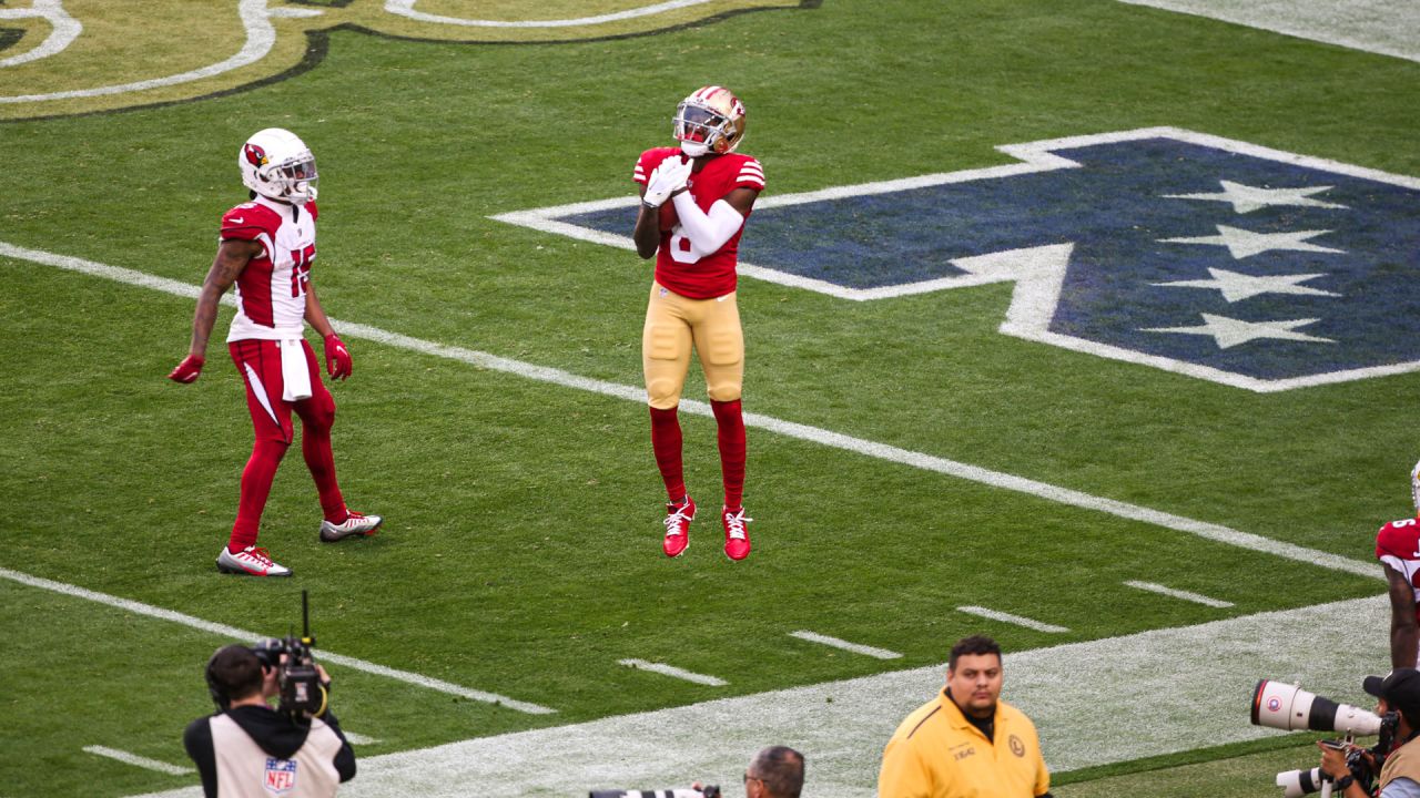
<path fill-rule="evenodd" d="M 859 196 L 903 192 L 912 189 L 923 189 L 949 183 L 1004 179 L 1018 175 L 1051 172 L 1055 169 L 1078 169 L 1081 163 L 1059 156 L 1054 151 L 1095 146 L 1103 143 L 1119 143 L 1127 141 L 1153 139 L 1153 138 L 1174 139 L 1184 143 L 1193 143 L 1198 146 L 1218 149 L 1223 152 L 1247 155 L 1264 160 L 1277 160 L 1281 163 L 1289 163 L 1308 169 L 1335 172 L 1339 175 L 1348 175 L 1365 180 L 1375 180 L 1379 183 L 1390 183 L 1407 189 L 1420 190 L 1420 177 L 1411 177 L 1407 175 L 1392 175 L 1389 172 L 1380 172 L 1377 169 L 1367 169 L 1365 166 L 1355 166 L 1350 163 L 1342 163 L 1339 160 L 1329 160 L 1323 158 L 1296 155 L 1294 152 L 1271 149 L 1250 142 L 1225 139 L 1223 136 L 1198 133 L 1181 128 L 1160 126 L 1160 128 L 1140 128 L 1135 131 L 1118 131 L 1112 133 L 1092 133 L 1082 136 L 1068 136 L 1059 139 L 1001 145 L 997 146 L 995 149 L 1005 155 L 1017 158 L 1018 163 L 1008 163 L 1004 166 L 990 166 L 984 169 L 966 169 L 960 172 L 920 175 L 916 177 L 903 177 L 896 180 L 878 180 L 872 183 L 858 183 L 851 186 L 834 186 L 829 189 L 802 192 L 797 195 L 768 196 L 758 200 L 755 203 L 755 207 L 758 210 L 765 210 L 774 207 L 804 204 L 811 202 L 849 199 Z M 564 219 L 581 213 L 592 213 L 598 210 L 609 210 L 618 207 L 632 207 L 636 203 L 638 199 L 635 196 L 612 197 L 605 200 L 579 202 L 571 204 L 501 213 L 497 216 L 490 216 L 490 219 L 494 219 L 497 222 L 506 222 L 508 224 L 517 224 L 521 227 L 530 227 L 532 230 L 540 230 L 544 233 L 567 236 L 581 241 L 591 241 L 596 244 L 605 244 L 635 251 L 636 244 L 628 236 L 604 233 L 601 230 L 592 230 L 589 227 L 579 227 L 577 224 L 565 222 Z M 1074 247 L 1072 243 L 1064 241 L 1038 247 L 1024 247 L 1017 250 L 983 253 L 983 254 L 954 258 L 951 264 L 961 268 L 966 274 L 953 277 L 939 277 L 933 280 L 906 283 L 900 285 L 885 285 L 879 288 L 848 288 L 822 280 L 815 280 L 812 277 L 788 274 L 784 271 L 777 271 L 772 268 L 765 268 L 747 263 L 740 264 L 740 274 L 757 280 L 764 280 L 767 283 L 774 283 L 778 285 L 802 288 L 807 291 L 816 291 L 821 294 L 828 294 L 831 297 L 838 297 L 841 300 L 852 300 L 859 302 L 869 300 L 883 300 L 883 298 L 905 297 L 912 294 L 923 294 L 929 291 L 970 288 L 991 283 L 1015 283 L 1015 291 L 1012 293 L 1011 297 L 1011 305 L 1007 310 L 1007 318 L 1004 322 L 1001 322 L 1001 327 L 998 328 L 1000 332 L 1004 335 L 1022 338 L 1025 341 L 1035 341 L 1039 344 L 1048 344 L 1052 346 L 1059 346 L 1062 349 L 1095 355 L 1099 358 L 1152 366 L 1173 373 L 1193 376 L 1196 379 L 1206 379 L 1210 382 L 1231 385 L 1234 388 L 1242 388 L 1245 390 L 1254 390 L 1258 393 L 1292 390 L 1295 388 L 1309 388 L 1315 385 L 1333 385 L 1355 379 L 1370 379 L 1370 378 L 1390 376 L 1397 373 L 1409 373 L 1413 371 L 1420 371 L 1420 361 L 1411 361 L 1404 364 L 1390 364 L 1383 366 L 1333 371 L 1333 372 L 1296 376 L 1296 378 L 1258 379 L 1255 376 L 1233 373 L 1211 366 L 1191 364 L 1187 361 L 1179 361 L 1174 358 L 1164 358 L 1159 355 L 1149 355 L 1145 352 L 1126 349 L 1123 346 L 1113 346 L 1109 344 L 1100 344 L 1096 341 L 1076 338 L 1074 335 L 1051 332 L 1049 322 L 1051 318 L 1054 317 L 1055 307 L 1059 298 L 1061 284 L 1065 280 L 1065 271 L 1069 264 L 1072 247 Z"/>

